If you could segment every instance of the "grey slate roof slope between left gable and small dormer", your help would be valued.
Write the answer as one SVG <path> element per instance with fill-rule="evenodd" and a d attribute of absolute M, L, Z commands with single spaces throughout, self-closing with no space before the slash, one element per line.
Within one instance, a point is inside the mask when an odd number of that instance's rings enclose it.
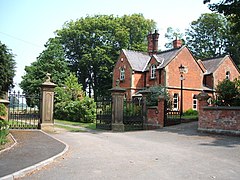
<path fill-rule="evenodd" d="M 148 53 L 125 50 L 125 49 L 123 49 L 123 52 L 126 55 L 134 71 L 143 71 L 145 65 L 150 59 L 150 56 L 148 55 Z"/>

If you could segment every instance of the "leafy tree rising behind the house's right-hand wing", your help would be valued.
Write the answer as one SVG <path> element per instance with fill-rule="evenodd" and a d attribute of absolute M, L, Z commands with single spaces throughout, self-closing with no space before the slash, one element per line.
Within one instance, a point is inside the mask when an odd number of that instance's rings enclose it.
<path fill-rule="evenodd" d="M 197 58 L 226 53 L 229 44 L 229 23 L 216 13 L 202 14 L 186 31 L 186 44 Z"/>

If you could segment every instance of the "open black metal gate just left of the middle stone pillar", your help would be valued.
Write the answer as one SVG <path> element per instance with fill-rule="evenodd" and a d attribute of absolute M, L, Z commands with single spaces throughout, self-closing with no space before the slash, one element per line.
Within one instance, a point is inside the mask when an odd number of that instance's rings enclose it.
<path fill-rule="evenodd" d="M 96 101 L 96 128 L 111 130 L 112 129 L 112 99 L 98 98 Z"/>

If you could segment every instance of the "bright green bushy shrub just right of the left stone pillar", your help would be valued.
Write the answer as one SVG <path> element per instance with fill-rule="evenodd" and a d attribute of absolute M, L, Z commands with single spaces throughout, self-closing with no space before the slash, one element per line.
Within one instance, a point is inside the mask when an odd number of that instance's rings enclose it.
<path fill-rule="evenodd" d="M 54 117 L 69 121 L 93 122 L 96 117 L 94 100 L 82 90 L 82 85 L 72 73 L 63 87 L 55 88 Z"/>

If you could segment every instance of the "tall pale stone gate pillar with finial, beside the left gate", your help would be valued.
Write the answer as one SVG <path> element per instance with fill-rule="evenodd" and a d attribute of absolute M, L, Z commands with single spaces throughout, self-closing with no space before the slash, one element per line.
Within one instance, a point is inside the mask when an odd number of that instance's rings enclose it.
<path fill-rule="evenodd" d="M 43 131 L 54 131 L 53 105 L 56 84 L 50 81 L 50 74 L 41 85 L 40 128 Z"/>

